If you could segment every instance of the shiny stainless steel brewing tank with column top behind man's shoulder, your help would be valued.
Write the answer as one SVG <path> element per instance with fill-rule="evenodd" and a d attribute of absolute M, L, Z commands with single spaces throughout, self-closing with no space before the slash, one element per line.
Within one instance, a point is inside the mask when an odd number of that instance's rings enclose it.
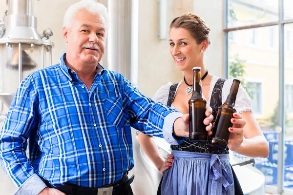
<path fill-rule="evenodd" d="M 8 10 L 0 21 L 0 99 L 8 107 L 21 80 L 51 65 L 50 29 L 37 31 L 33 0 L 7 0 Z"/>

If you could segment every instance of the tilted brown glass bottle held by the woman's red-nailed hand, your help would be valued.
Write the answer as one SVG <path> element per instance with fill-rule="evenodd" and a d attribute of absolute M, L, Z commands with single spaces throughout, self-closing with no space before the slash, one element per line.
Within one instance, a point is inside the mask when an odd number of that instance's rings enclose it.
<path fill-rule="evenodd" d="M 233 113 L 236 112 L 234 105 L 239 85 L 240 80 L 234 79 L 227 100 L 219 107 L 212 135 L 209 139 L 209 144 L 211 146 L 217 147 L 221 150 L 226 150 L 227 148 L 230 136 L 229 127 L 233 126 L 231 118 L 233 118 Z"/>

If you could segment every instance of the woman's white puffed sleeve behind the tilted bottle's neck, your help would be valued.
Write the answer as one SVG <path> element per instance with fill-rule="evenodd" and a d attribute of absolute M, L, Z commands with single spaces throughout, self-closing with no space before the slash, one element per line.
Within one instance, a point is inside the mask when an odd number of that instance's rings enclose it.
<path fill-rule="evenodd" d="M 225 81 L 222 89 L 222 102 L 224 103 L 229 95 L 230 88 L 233 82 L 233 78 L 230 78 Z M 252 101 L 243 86 L 240 84 L 236 102 L 235 109 L 238 113 L 243 113 L 245 111 L 252 112 Z"/>

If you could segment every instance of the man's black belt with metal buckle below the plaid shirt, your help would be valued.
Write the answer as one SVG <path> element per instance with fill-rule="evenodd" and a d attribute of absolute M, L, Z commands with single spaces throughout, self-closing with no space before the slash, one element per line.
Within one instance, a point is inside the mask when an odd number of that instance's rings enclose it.
<path fill-rule="evenodd" d="M 86 188 L 68 183 L 67 185 L 55 189 L 60 190 L 67 195 L 119 195 L 129 187 L 133 179 L 134 175 L 128 179 L 128 176 L 125 173 L 119 181 L 100 188 Z M 48 187 L 52 187 L 47 180 L 43 179 L 43 181 Z"/>

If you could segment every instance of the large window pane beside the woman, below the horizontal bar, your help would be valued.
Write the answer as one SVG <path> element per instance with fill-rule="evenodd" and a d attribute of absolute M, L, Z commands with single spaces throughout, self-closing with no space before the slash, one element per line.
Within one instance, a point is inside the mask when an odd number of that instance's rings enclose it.
<path fill-rule="evenodd" d="M 270 144 L 269 157 L 256 158 L 255 167 L 265 175 L 267 185 L 276 186 L 278 136 L 275 129 L 278 125 L 279 100 L 278 27 L 230 32 L 229 68 L 230 77 L 239 78 L 250 95 L 253 115 Z"/>

